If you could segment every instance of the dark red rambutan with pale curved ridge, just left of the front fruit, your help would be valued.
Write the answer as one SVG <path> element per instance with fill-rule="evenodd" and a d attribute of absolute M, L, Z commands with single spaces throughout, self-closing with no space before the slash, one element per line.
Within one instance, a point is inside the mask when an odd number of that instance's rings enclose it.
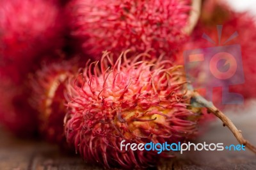
<path fill-rule="evenodd" d="M 61 61 L 44 65 L 38 70 L 31 87 L 31 105 L 38 111 L 40 135 L 52 143 L 65 144 L 63 120 L 67 113 L 64 92 L 68 76 L 77 72 L 78 60 Z"/>

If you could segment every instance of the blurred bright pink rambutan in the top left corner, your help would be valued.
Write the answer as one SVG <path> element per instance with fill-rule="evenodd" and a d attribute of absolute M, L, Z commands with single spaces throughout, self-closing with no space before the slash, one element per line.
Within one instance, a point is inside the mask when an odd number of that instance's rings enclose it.
<path fill-rule="evenodd" d="M 0 16 L 0 56 L 4 65 L 29 66 L 34 58 L 63 45 L 65 25 L 53 1 L 3 0 Z"/>

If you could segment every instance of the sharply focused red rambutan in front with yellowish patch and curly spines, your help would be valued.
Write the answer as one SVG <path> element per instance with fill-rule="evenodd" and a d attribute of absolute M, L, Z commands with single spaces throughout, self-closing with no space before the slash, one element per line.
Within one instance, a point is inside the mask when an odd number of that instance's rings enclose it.
<path fill-rule="evenodd" d="M 90 163 L 125 169 L 154 166 L 156 151 L 121 151 L 120 143 L 178 143 L 195 135 L 198 112 L 191 111 L 180 66 L 147 60 L 148 54 L 113 62 L 105 52 L 83 75 L 67 84 L 65 135 Z M 124 59 L 124 62 L 121 60 Z M 140 61 L 141 59 L 141 61 Z"/>

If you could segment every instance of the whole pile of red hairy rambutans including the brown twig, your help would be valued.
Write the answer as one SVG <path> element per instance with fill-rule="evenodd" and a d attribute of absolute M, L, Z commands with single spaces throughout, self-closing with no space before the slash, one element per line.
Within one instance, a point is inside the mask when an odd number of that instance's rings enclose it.
<path fill-rule="evenodd" d="M 199 0 L 0 1 L 0 123 L 14 134 L 74 150 L 90 164 L 144 169 L 174 152 L 124 151 L 122 141 L 186 143 L 213 120 L 208 111 L 255 151 L 193 89 L 182 56 L 187 49 L 211 47 L 202 34 L 215 40 L 218 24 L 225 40 L 237 31 L 245 82 L 230 91 L 254 98 L 255 22 L 218 1 L 204 1 L 200 15 L 200 5 Z M 204 68 L 195 69 L 196 81 Z M 220 90 L 213 102 L 221 104 Z"/>

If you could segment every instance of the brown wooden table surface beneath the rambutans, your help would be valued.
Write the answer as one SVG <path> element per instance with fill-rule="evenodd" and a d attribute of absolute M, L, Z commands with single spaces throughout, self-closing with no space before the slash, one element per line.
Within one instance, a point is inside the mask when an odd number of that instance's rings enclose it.
<path fill-rule="evenodd" d="M 251 143 L 256 144 L 256 102 L 249 109 L 227 111 L 237 128 Z M 61 152 L 58 146 L 42 141 L 16 139 L 1 130 L 0 170 L 80 170 L 102 169 L 85 164 L 79 156 Z M 194 143 L 238 144 L 227 127 L 220 121 L 209 125 L 207 133 Z M 250 151 L 186 151 L 171 160 L 163 162 L 158 169 L 256 169 L 256 155 Z"/>

